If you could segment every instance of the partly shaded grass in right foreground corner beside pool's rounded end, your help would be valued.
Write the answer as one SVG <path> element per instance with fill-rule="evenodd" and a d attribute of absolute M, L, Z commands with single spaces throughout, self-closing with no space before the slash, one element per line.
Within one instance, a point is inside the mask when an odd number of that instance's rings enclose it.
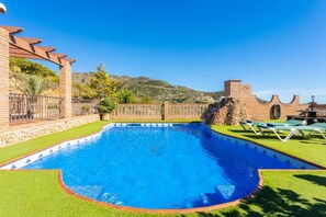
<path fill-rule="evenodd" d="M 263 186 L 255 198 L 212 216 L 326 216 L 326 171 L 261 173 Z"/>

